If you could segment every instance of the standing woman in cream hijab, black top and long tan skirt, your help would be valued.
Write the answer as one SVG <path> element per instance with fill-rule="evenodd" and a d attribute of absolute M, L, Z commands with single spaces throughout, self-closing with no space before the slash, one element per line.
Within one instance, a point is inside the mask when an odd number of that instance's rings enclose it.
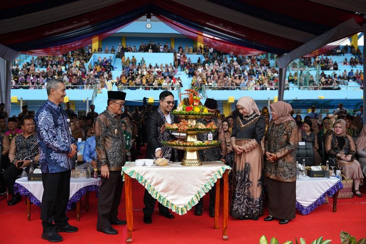
<path fill-rule="evenodd" d="M 234 120 L 231 143 L 234 149 L 234 193 L 231 215 L 236 219 L 258 220 L 263 215 L 264 118 L 250 97 L 236 104 L 240 113 Z"/>

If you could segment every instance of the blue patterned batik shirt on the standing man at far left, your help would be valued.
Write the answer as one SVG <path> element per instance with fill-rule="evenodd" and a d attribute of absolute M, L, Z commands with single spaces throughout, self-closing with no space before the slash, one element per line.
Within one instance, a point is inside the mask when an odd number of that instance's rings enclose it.
<path fill-rule="evenodd" d="M 38 147 L 42 173 L 58 173 L 70 170 L 72 159 L 68 157 L 71 144 L 75 143 L 69 130 L 67 114 L 61 105 L 47 101 L 34 117 L 37 127 Z"/>

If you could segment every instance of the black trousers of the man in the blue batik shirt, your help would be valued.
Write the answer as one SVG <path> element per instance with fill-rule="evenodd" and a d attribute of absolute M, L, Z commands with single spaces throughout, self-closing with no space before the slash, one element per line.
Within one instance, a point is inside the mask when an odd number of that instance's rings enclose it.
<path fill-rule="evenodd" d="M 55 232 L 56 226 L 68 224 L 69 218 L 66 216 L 66 207 L 70 195 L 70 174 L 71 170 L 58 173 L 42 173 L 41 220 L 43 233 Z"/>

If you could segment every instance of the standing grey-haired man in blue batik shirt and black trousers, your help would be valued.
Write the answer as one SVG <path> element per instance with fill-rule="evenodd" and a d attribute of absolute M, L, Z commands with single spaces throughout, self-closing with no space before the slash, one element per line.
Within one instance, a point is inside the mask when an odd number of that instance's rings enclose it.
<path fill-rule="evenodd" d="M 66 96 L 63 81 L 49 80 L 46 89 L 48 100 L 35 116 L 43 183 L 42 239 L 61 242 L 58 232 L 78 231 L 68 224 L 66 216 L 72 158 L 77 146 L 69 130 L 67 114 L 60 105 Z"/>

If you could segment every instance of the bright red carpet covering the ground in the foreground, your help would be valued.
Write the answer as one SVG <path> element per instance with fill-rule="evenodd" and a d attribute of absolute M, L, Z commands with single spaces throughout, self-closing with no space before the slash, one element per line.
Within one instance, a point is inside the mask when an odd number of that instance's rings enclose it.
<path fill-rule="evenodd" d="M 175 215 L 175 219 L 168 220 L 158 214 L 153 215 L 152 224 L 142 222 L 142 196 L 144 189 L 137 181 L 133 181 L 133 209 L 134 231 L 132 232 L 133 243 L 220 243 L 222 241 L 221 229 L 213 228 L 213 218 L 208 216 L 208 195 L 204 197 L 205 207 L 203 216 L 194 216 L 189 211 L 183 216 Z M 221 191 L 222 193 L 222 191 Z M 323 236 L 331 239 L 332 243 L 340 243 L 342 230 L 356 236 L 357 239 L 366 237 L 366 191 L 363 189 L 363 198 L 338 200 L 337 213 L 332 212 L 332 199 L 329 204 L 323 204 L 309 215 L 296 215 L 296 219 L 289 224 L 280 225 L 278 221 L 264 222 L 267 210 L 259 221 L 240 221 L 229 216 L 228 237 L 229 243 L 255 244 L 259 238 L 265 235 L 268 239 L 275 236 L 280 243 L 287 240 L 295 241 L 295 238 L 303 237 L 307 243 Z M 3 230 L 1 243 L 48 243 L 41 239 L 40 208 L 32 205 L 31 221 L 27 222 L 26 206 L 24 198 L 15 206 L 7 206 L 6 198 L 0 200 L 0 229 Z M 76 233 L 61 233 L 63 243 L 68 244 L 102 244 L 124 243 L 125 226 L 116 226 L 118 235 L 109 236 L 96 231 L 97 222 L 97 198 L 93 193 L 90 196 L 90 210 L 85 212 L 85 203 L 81 206 L 81 221 L 76 221 L 75 210 L 67 213 L 69 223 L 79 227 Z M 120 204 L 120 219 L 125 219 L 124 192 Z M 221 209 L 222 210 L 222 209 Z M 222 212 L 222 211 L 221 211 Z M 222 219 L 220 219 L 220 227 Z"/>

